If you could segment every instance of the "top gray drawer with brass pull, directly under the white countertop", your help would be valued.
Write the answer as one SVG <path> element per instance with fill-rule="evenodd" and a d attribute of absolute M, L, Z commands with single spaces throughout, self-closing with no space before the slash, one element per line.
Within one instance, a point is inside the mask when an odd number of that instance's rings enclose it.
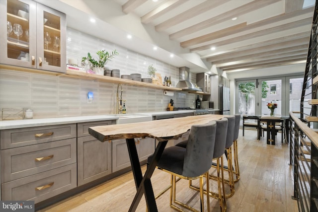
<path fill-rule="evenodd" d="M 1 149 L 76 138 L 76 124 L 1 130 Z"/>

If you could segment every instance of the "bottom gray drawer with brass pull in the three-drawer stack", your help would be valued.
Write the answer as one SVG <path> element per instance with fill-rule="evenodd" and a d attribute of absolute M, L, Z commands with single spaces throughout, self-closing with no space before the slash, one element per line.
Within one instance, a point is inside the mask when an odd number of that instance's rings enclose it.
<path fill-rule="evenodd" d="M 76 185 L 76 163 L 74 163 L 2 183 L 1 200 L 26 200 L 38 203 L 73 189 Z"/>

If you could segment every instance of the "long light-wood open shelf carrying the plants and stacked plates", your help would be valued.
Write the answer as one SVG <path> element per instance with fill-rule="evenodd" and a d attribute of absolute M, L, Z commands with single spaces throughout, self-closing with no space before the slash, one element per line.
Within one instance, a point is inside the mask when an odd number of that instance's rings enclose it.
<path fill-rule="evenodd" d="M 147 82 L 140 82 L 140 81 L 134 81 L 129 79 L 116 78 L 112 76 L 103 76 L 103 75 L 97 75 L 97 74 L 91 74 L 91 73 L 85 73 L 85 72 L 73 71 L 73 70 L 67 70 L 66 73 L 58 73 L 53 71 L 42 71 L 38 69 L 9 66 L 4 64 L 0 64 L 0 69 L 12 70 L 12 71 L 24 71 L 24 72 L 30 72 L 30 73 L 41 73 L 41 74 L 64 76 L 64 77 L 86 79 L 86 80 L 98 80 L 102 82 L 110 82 L 115 84 L 128 84 L 128 85 L 149 87 L 149 88 L 162 89 L 162 90 L 173 90 L 173 91 L 182 90 L 181 88 L 177 88 L 177 87 L 168 87 L 168 86 L 152 84 Z"/>

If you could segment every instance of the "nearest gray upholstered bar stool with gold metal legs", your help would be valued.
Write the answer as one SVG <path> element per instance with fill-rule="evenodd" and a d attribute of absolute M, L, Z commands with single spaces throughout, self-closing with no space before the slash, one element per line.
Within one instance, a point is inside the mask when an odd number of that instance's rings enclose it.
<path fill-rule="evenodd" d="M 201 212 L 204 211 L 203 176 L 207 179 L 207 190 L 209 190 L 209 169 L 213 158 L 216 127 L 215 121 L 204 125 L 193 125 L 186 148 L 180 146 L 165 148 L 158 161 L 158 168 L 171 174 L 170 207 L 179 212 L 182 212 L 182 209 L 173 204 L 178 204 L 194 212 L 197 212 L 197 210 L 175 199 L 176 177 L 188 180 L 200 179 Z M 151 160 L 151 157 L 148 158 L 148 161 Z M 210 212 L 209 196 L 207 195 L 208 212 Z"/>

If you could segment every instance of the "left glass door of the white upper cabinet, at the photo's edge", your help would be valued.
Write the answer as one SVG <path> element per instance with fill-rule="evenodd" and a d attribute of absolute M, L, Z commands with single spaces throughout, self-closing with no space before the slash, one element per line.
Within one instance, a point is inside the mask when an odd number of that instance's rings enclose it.
<path fill-rule="evenodd" d="M 35 2 L 1 0 L 0 4 L 1 63 L 35 68 L 35 60 L 32 61 L 36 56 L 36 39 L 32 39 L 36 37 Z"/>

